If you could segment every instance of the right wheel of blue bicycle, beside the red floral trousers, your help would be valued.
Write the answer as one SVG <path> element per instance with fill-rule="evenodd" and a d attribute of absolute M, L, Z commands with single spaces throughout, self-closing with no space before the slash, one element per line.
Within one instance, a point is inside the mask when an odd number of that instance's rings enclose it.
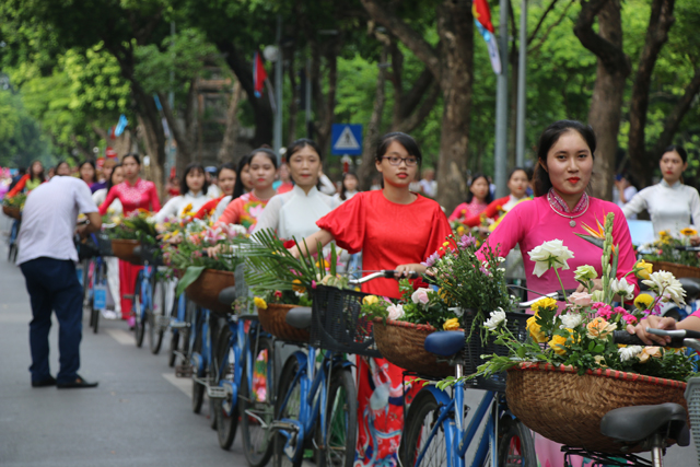
<path fill-rule="evenodd" d="M 349 369 L 331 372 L 326 427 L 316 430 L 318 467 L 352 467 L 358 441 L 358 394 Z M 322 433 L 326 434 L 323 442 Z"/>

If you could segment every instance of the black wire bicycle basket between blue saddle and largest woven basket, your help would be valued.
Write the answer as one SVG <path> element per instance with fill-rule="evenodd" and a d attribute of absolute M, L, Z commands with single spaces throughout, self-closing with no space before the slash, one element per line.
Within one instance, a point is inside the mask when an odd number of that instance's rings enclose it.
<path fill-rule="evenodd" d="M 471 332 L 470 329 L 476 318 L 477 312 L 472 310 L 466 310 L 464 312 L 464 329 L 465 329 L 465 338 L 466 343 L 464 347 L 464 374 L 470 375 L 477 372 L 477 366 L 486 363 L 486 360 L 481 358 L 481 355 L 492 355 L 495 353 L 497 355 L 508 355 L 509 350 L 505 346 L 498 346 L 493 343 L 495 340 L 492 336 L 485 336 L 482 339 L 480 327 L 481 323 L 477 324 L 477 328 Z M 525 313 L 506 313 L 506 324 L 508 329 L 520 341 L 525 341 L 527 339 L 527 318 L 532 315 Z M 471 384 L 472 387 L 478 389 L 486 390 L 498 390 L 505 392 L 505 372 L 494 374 L 490 377 L 476 377 L 467 381 L 467 384 Z"/>

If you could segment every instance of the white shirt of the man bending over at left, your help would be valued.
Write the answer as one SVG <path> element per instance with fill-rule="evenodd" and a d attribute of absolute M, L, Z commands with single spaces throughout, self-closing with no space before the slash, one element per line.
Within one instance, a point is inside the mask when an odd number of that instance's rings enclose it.
<path fill-rule="evenodd" d="M 34 188 L 22 211 L 18 265 L 42 257 L 78 261 L 73 233 L 81 212 L 97 206 L 80 178 L 57 176 Z"/>

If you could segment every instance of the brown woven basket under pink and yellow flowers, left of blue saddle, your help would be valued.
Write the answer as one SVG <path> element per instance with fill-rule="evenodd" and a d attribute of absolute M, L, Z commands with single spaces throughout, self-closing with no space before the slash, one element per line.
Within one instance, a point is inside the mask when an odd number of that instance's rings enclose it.
<path fill-rule="evenodd" d="M 455 369 L 447 362 L 438 361 L 434 353 L 425 351 L 425 337 L 438 329 L 430 325 L 374 318 L 374 341 L 377 349 L 389 362 L 421 375 L 447 377 Z"/>

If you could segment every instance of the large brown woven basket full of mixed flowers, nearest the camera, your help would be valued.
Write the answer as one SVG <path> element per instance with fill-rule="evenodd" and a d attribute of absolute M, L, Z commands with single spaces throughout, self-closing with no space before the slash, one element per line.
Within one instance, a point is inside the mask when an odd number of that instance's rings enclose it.
<path fill-rule="evenodd" d="M 617 278 L 612 215 L 605 223 L 602 290 L 593 291 L 595 269 L 582 266 L 574 277 L 586 291 L 569 295 L 563 310 L 548 297 L 533 304 L 528 336 L 514 335 L 508 319 L 492 316 L 485 327 L 508 352 L 485 355 L 477 375 L 508 370 L 509 407 L 532 430 L 558 443 L 616 454 L 622 446 L 599 434 L 602 417 L 623 406 L 685 405 L 682 382 L 693 374 L 695 364 L 673 349 L 615 343 L 614 331 L 658 313 L 661 302 L 682 304 L 685 292 L 672 273 L 650 273 L 651 265 L 643 261 Z M 557 277 L 573 257 L 560 241 L 545 242 L 529 255 L 536 261 L 535 273 L 553 269 Z M 616 297 L 634 297 L 634 287 L 627 282 L 631 273 L 644 279 L 656 296 L 641 294 L 632 307 L 617 306 Z"/>

